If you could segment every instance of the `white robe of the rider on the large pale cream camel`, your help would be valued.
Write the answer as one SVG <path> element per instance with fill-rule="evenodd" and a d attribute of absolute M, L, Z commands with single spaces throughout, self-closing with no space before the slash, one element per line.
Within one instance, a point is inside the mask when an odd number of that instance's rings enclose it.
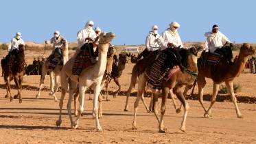
<path fill-rule="evenodd" d="M 95 38 L 97 37 L 95 31 L 91 30 L 86 31 L 86 29 L 82 29 L 78 31 L 77 40 L 78 40 L 78 48 L 81 48 L 85 44 L 85 38 L 92 38 L 93 42 L 95 41 Z"/>

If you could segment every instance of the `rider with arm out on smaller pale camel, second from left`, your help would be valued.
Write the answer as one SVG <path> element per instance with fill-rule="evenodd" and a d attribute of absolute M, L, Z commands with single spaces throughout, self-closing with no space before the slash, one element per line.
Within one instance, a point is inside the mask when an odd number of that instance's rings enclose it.
<path fill-rule="evenodd" d="M 67 40 L 65 40 L 65 38 L 63 38 L 60 35 L 60 31 L 54 31 L 54 37 L 51 38 L 51 40 L 45 40 L 45 44 L 54 44 L 53 46 L 53 51 L 51 53 L 51 55 L 59 55 L 59 57 L 62 58 L 62 51 L 60 51 L 62 49 L 62 44 L 63 42 L 67 42 Z"/>

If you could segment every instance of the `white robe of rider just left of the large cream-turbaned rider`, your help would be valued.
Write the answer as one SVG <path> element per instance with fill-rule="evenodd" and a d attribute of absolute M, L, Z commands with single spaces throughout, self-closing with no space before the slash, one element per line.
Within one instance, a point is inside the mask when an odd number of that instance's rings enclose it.
<path fill-rule="evenodd" d="M 157 43 L 156 39 L 160 38 L 159 33 L 156 36 L 153 35 L 154 33 L 150 33 L 150 35 L 146 38 L 146 48 L 148 51 L 156 51 L 160 49 L 160 45 Z"/>

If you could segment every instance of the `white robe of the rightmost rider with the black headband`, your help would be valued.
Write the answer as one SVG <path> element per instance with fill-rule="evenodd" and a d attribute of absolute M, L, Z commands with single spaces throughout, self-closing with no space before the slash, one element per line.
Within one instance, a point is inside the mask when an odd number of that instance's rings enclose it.
<path fill-rule="evenodd" d="M 205 42 L 205 52 L 213 53 L 217 48 L 221 48 L 226 42 L 231 43 L 228 38 L 220 31 L 218 33 L 205 33 L 207 40 Z"/>

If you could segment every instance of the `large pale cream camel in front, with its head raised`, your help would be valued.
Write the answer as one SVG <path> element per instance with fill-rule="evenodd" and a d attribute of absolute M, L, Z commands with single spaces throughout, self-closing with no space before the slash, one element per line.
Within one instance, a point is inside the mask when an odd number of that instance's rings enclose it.
<path fill-rule="evenodd" d="M 76 81 L 71 81 L 69 78 L 72 74 L 72 68 L 73 68 L 73 63 L 75 61 L 75 57 L 72 57 L 67 61 L 66 65 L 62 68 L 61 74 L 60 74 L 60 82 L 61 82 L 61 98 L 60 98 L 60 115 L 59 119 L 56 121 L 56 126 L 60 126 L 62 119 L 61 119 L 61 114 L 62 114 L 62 106 L 63 106 L 63 99 L 65 98 L 65 93 L 67 92 L 67 88 L 69 85 L 69 101 L 67 104 L 67 110 L 69 113 L 69 119 L 71 121 L 71 128 L 76 129 L 78 128 L 79 124 L 79 119 L 82 116 L 82 112 L 84 111 L 84 92 L 88 87 L 91 85 L 93 86 L 94 89 L 94 98 L 93 98 L 93 113 L 95 113 L 95 120 L 96 120 L 96 130 L 97 132 L 103 132 L 102 127 L 100 126 L 100 121 L 99 118 L 97 117 L 97 111 L 98 111 L 98 98 L 101 90 L 101 83 L 102 83 L 102 78 L 104 75 L 104 72 L 106 70 L 106 57 L 107 57 L 107 51 L 108 51 L 108 46 L 111 40 L 115 38 L 115 33 L 106 33 L 102 32 L 100 33 L 100 42 L 98 45 L 99 48 L 99 59 L 95 65 L 86 68 L 85 70 L 82 71 L 80 74 L 77 83 Z M 73 100 L 73 96 L 75 91 L 79 89 L 79 102 L 80 106 L 78 109 L 78 116 L 76 117 L 75 121 L 73 121 L 72 116 L 71 116 L 71 102 Z"/>

